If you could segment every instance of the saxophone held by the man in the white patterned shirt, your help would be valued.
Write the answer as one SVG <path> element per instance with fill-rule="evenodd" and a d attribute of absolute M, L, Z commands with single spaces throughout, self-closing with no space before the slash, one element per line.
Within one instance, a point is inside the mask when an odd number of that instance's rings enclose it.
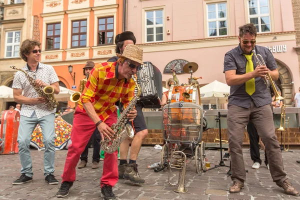
<path fill-rule="evenodd" d="M 45 97 L 47 99 L 47 102 L 45 102 L 45 105 L 47 107 L 48 110 L 52 111 L 54 108 L 56 108 L 58 106 L 58 102 L 54 97 L 54 88 L 52 86 L 45 86 L 44 88 L 42 87 L 37 87 L 35 85 L 35 80 L 29 76 L 29 74 L 19 68 L 16 68 L 15 66 L 10 66 L 10 68 L 22 71 L 23 73 L 25 73 L 25 76 L 27 78 L 27 80 L 29 81 L 29 83 L 32 85 L 32 87 L 35 89 L 35 91 L 37 92 L 38 96 L 40 97 Z"/>

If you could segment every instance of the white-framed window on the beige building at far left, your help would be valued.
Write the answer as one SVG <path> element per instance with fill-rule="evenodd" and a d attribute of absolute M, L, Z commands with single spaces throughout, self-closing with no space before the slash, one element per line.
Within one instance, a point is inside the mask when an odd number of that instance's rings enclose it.
<path fill-rule="evenodd" d="M 6 32 L 5 57 L 18 57 L 19 56 L 20 36 L 21 36 L 20 30 Z"/>

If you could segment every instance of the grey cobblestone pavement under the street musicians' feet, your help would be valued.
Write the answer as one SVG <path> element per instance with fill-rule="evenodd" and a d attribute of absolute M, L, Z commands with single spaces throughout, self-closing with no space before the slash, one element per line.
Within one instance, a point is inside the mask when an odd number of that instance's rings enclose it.
<path fill-rule="evenodd" d="M 56 178 L 61 181 L 60 175 L 63 170 L 66 150 L 56 151 L 55 173 Z M 91 157 L 92 149 L 89 149 Z M 220 151 L 206 150 L 206 157 L 211 163 L 210 166 L 218 164 Z M 218 167 L 207 172 L 196 173 L 195 161 L 188 159 L 185 186 L 187 193 L 176 193 L 175 186 L 169 186 L 167 182 L 168 170 L 154 172 L 147 169 L 147 165 L 157 162 L 160 159 L 160 150 L 153 146 L 142 146 L 138 157 L 138 170 L 145 178 L 144 184 L 133 184 L 128 180 L 119 180 L 113 187 L 117 199 L 300 199 L 283 193 L 283 189 L 272 182 L 269 171 L 262 164 L 259 169 L 252 169 L 249 150 L 243 150 L 246 174 L 245 188 L 240 193 L 229 194 L 228 189 L 231 183 L 227 177 L 227 167 Z M 260 151 L 263 157 L 262 151 Z M 31 150 L 33 158 L 33 181 L 12 185 L 11 182 L 19 177 L 20 161 L 18 154 L 0 155 L 0 199 L 59 199 L 55 197 L 58 185 L 49 185 L 43 177 L 43 151 Z M 290 181 L 294 187 L 300 190 L 300 164 L 295 160 L 300 159 L 300 150 L 294 152 L 282 152 L 284 169 L 287 171 Z M 90 160 L 90 159 L 89 159 Z M 225 161 L 229 164 L 229 161 Z M 102 199 L 100 197 L 99 180 L 102 174 L 102 161 L 98 169 L 91 169 L 91 161 L 82 169 L 76 169 L 76 181 L 67 197 L 61 199 Z"/>

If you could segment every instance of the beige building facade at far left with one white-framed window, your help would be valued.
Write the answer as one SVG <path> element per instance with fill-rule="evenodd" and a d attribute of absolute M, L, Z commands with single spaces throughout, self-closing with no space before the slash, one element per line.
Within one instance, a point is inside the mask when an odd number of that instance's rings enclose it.
<path fill-rule="evenodd" d="M 25 62 L 19 56 L 21 41 L 29 38 L 32 31 L 32 0 L 1 0 L 0 2 L 0 85 L 11 86 L 14 69 Z M 2 4 L 2 5 L 1 5 Z M 11 102 L 14 103 L 14 102 Z M 0 110 L 10 102 L 0 100 Z"/>

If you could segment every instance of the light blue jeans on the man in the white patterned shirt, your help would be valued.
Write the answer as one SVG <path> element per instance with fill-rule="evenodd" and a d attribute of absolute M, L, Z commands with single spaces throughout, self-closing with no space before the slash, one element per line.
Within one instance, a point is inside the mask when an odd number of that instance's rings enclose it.
<path fill-rule="evenodd" d="M 18 149 L 19 158 L 21 161 L 21 174 L 32 177 L 32 160 L 29 151 L 31 134 L 39 123 L 42 132 L 42 142 L 45 146 L 44 151 L 44 176 L 54 173 L 54 158 L 55 158 L 55 131 L 54 131 L 54 113 L 37 118 L 34 112 L 33 116 L 20 116 L 20 124 L 18 128 Z"/>

